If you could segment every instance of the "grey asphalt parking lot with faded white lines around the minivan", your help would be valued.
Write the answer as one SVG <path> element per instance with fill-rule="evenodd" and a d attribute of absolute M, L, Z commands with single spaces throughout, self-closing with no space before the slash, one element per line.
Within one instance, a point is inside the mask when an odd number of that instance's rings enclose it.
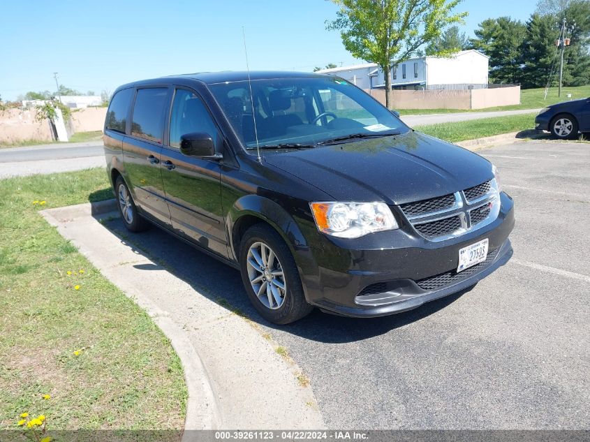
<path fill-rule="evenodd" d="M 276 327 L 253 310 L 236 270 L 156 228 L 108 226 L 288 348 L 327 427 L 588 429 L 590 145 L 518 142 L 478 153 L 515 199 L 514 257 L 466 293 L 397 316 L 315 311 Z"/>

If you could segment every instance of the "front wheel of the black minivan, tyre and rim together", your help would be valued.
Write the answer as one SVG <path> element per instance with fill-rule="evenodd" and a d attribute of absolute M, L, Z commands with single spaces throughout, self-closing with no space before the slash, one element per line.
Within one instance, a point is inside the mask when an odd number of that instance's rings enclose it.
<path fill-rule="evenodd" d="M 239 267 L 250 301 L 267 321 L 293 323 L 314 309 L 305 300 L 293 255 L 270 226 L 256 224 L 246 230 Z"/>

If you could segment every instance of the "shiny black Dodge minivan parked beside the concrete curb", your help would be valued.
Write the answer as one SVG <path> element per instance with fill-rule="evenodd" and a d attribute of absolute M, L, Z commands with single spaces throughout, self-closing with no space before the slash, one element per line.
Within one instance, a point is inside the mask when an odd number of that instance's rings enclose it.
<path fill-rule="evenodd" d="M 127 228 L 155 223 L 236 267 L 273 323 L 314 307 L 406 311 L 473 286 L 512 256 L 513 202 L 494 165 L 413 131 L 332 75 L 125 84 L 104 133 Z"/>

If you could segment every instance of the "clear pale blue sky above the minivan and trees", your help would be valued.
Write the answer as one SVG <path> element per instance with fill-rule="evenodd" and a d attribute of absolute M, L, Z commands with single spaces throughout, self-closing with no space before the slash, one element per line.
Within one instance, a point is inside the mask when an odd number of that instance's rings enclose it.
<path fill-rule="evenodd" d="M 464 0 L 464 31 L 510 15 L 526 20 L 536 0 Z M 339 33 L 325 30 L 337 7 L 326 0 L 3 0 L 0 95 L 67 87 L 113 91 L 119 84 L 175 73 L 246 68 L 311 71 L 353 64 Z"/>

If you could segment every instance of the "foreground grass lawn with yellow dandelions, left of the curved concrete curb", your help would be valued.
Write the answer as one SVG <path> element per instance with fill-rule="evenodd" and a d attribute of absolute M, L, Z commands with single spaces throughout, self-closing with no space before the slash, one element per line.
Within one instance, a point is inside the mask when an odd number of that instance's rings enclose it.
<path fill-rule="evenodd" d="M 0 429 L 182 429 L 179 358 L 38 210 L 112 198 L 104 169 L 0 180 Z M 43 395 L 49 395 L 43 399 Z"/>

